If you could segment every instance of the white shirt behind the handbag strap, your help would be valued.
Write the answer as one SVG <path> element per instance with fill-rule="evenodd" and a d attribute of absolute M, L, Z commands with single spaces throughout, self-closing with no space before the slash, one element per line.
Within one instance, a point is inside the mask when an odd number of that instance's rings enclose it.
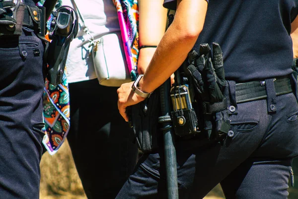
<path fill-rule="evenodd" d="M 75 0 L 75 3 L 94 39 L 104 33 L 120 30 L 117 9 L 112 0 Z M 74 7 L 71 0 L 63 0 L 63 4 Z M 89 36 L 81 29 L 82 24 L 79 18 L 78 33 L 71 42 L 66 62 L 69 83 L 96 78 L 92 56 L 89 56 Z"/>

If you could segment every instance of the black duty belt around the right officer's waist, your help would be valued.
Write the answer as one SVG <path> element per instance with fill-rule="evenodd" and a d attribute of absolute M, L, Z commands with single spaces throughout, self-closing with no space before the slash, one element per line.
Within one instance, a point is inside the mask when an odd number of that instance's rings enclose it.
<path fill-rule="evenodd" d="M 290 77 L 274 79 L 276 96 L 292 93 Z M 236 84 L 236 102 L 243 103 L 267 99 L 265 81 Z"/>

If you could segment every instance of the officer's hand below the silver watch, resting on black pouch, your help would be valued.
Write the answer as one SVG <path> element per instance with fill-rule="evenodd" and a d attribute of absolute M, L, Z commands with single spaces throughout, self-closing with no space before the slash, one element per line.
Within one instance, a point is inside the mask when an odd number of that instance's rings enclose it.
<path fill-rule="evenodd" d="M 146 98 L 142 98 L 138 94 L 135 94 L 132 91 L 132 85 L 134 82 L 129 82 L 122 84 L 121 87 L 117 90 L 118 93 L 118 109 L 122 117 L 125 119 L 125 121 L 128 121 L 128 115 L 126 112 L 126 108 L 128 106 L 137 104 Z"/>

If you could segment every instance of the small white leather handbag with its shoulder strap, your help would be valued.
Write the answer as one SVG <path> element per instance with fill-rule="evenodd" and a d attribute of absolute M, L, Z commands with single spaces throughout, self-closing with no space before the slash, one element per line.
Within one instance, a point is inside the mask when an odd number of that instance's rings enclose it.
<path fill-rule="evenodd" d="M 109 32 L 94 40 L 74 0 L 72 3 L 80 17 L 84 32 L 90 36 L 89 47 L 91 47 L 94 71 L 99 84 L 108 87 L 120 87 L 124 83 L 131 82 L 120 30 Z"/>

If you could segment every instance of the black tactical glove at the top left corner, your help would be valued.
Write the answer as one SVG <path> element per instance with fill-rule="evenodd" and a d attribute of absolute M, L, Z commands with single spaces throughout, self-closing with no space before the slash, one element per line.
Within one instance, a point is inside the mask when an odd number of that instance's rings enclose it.
<path fill-rule="evenodd" d="M 16 25 L 16 20 L 11 17 L 14 7 L 13 0 L 0 0 L 0 25 Z"/>

